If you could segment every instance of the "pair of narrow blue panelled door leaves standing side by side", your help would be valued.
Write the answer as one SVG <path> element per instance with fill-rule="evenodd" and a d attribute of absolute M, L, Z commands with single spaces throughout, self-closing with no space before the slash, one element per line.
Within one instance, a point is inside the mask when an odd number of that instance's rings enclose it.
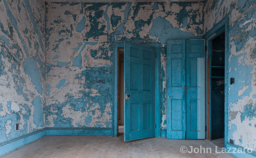
<path fill-rule="evenodd" d="M 167 41 L 167 139 L 205 139 L 205 41 Z"/>

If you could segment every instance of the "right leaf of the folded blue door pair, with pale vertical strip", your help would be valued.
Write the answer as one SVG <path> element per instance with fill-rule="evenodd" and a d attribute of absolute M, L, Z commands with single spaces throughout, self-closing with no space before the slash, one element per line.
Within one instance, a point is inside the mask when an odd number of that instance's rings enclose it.
<path fill-rule="evenodd" d="M 205 139 L 204 57 L 204 40 L 186 40 L 186 139 Z"/>

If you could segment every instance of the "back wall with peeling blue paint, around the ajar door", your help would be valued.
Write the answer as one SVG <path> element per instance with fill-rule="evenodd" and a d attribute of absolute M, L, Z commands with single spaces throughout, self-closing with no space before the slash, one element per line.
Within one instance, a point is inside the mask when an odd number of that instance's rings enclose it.
<path fill-rule="evenodd" d="M 161 128 L 166 129 L 166 40 L 202 38 L 203 6 L 46 3 L 46 126 L 112 127 L 113 42 L 127 40 L 161 43 Z"/>

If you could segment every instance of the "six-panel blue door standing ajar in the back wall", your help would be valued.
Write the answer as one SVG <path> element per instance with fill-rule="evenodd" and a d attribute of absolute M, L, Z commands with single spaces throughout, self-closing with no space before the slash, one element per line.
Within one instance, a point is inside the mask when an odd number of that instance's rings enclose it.
<path fill-rule="evenodd" d="M 155 48 L 124 43 L 124 141 L 155 137 Z"/>

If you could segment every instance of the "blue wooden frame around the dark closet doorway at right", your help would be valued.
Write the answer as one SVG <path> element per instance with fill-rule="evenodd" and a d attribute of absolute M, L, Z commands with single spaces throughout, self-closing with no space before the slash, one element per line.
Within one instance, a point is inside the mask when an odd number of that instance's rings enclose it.
<path fill-rule="evenodd" d="M 225 113 L 225 123 L 224 123 L 224 145 L 225 148 L 227 147 L 227 142 L 228 142 L 228 56 L 229 56 L 229 49 L 228 49 L 228 40 L 229 40 L 229 15 L 224 17 L 220 22 L 218 22 L 214 27 L 211 28 L 211 30 L 209 30 L 204 36 L 203 38 L 205 38 L 207 40 L 207 43 L 209 46 L 209 43 L 212 42 L 212 40 L 219 36 L 221 33 L 223 33 L 225 31 L 225 104 L 224 104 L 224 113 Z M 211 46 L 211 45 L 210 45 Z M 211 52 L 211 47 L 208 47 L 208 53 Z M 210 50 L 210 51 L 209 51 Z M 208 55 L 207 53 L 207 55 Z M 211 54 L 209 54 L 211 55 Z M 208 58 L 208 56 L 207 56 Z M 206 59 L 207 59 L 206 58 Z M 206 74 L 207 74 L 207 69 L 206 69 Z M 207 86 L 206 86 L 207 88 Z M 206 89 L 207 92 L 207 89 Z M 207 99 L 207 98 L 206 98 Z M 206 103 L 208 102 L 208 100 L 206 100 Z M 210 104 L 211 106 L 211 104 Z M 208 117 L 208 116 L 207 116 Z M 210 122 L 211 122 L 211 118 L 210 118 Z M 207 125 L 210 126 L 210 125 Z M 207 130 L 209 130 L 207 128 Z M 208 138 L 209 139 L 209 138 Z"/>

